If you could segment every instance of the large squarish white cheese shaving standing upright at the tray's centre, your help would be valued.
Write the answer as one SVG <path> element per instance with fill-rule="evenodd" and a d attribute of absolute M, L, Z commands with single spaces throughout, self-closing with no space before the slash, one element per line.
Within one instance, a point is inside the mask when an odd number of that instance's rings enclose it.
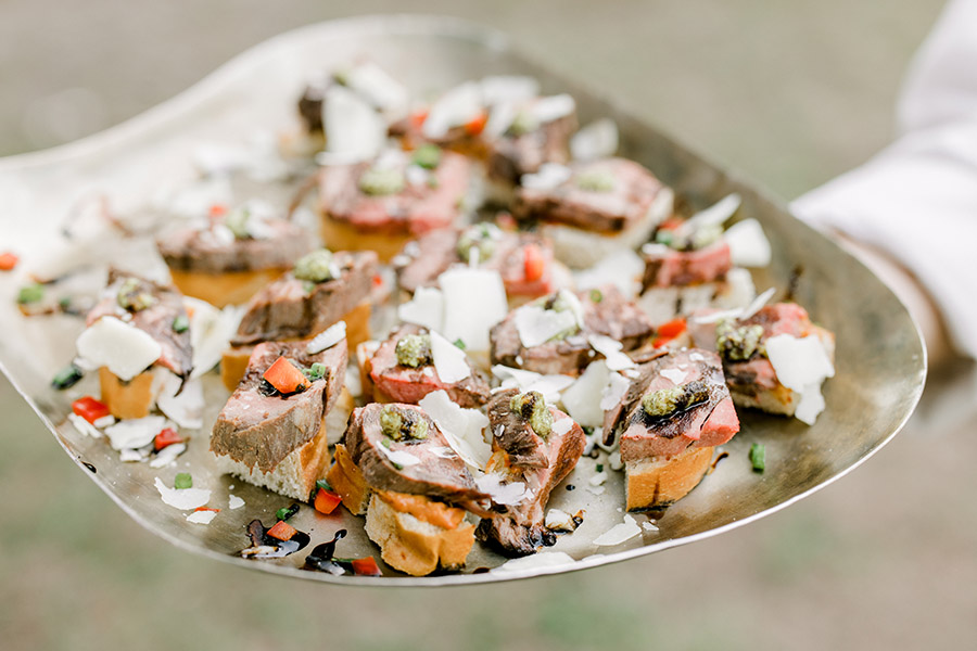
<path fill-rule="evenodd" d="M 509 304 L 498 271 L 455 267 L 437 278 L 444 294 L 444 336 L 468 350 L 488 349 L 488 330 L 506 318 Z"/>

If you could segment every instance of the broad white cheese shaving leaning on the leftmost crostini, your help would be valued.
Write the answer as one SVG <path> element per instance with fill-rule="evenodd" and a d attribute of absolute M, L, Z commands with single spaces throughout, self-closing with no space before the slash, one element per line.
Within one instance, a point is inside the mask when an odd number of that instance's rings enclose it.
<path fill-rule="evenodd" d="M 163 348 L 149 333 L 115 317 L 102 317 L 78 336 L 78 355 L 131 380 L 160 358 Z"/>

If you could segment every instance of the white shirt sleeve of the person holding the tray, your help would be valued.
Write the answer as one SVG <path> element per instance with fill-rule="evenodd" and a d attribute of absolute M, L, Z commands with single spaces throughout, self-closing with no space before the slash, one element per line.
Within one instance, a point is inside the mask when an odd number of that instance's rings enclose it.
<path fill-rule="evenodd" d="M 899 260 L 932 296 L 954 347 L 977 358 L 977 0 L 948 4 L 898 118 L 891 145 L 791 208 Z"/>

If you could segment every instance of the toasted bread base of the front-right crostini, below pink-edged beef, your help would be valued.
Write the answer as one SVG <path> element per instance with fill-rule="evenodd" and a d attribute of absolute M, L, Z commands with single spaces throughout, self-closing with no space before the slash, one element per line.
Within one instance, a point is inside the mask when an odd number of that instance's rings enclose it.
<path fill-rule="evenodd" d="M 674 457 L 649 457 L 625 463 L 627 510 L 663 508 L 685 497 L 709 470 L 713 449 L 689 447 Z"/>

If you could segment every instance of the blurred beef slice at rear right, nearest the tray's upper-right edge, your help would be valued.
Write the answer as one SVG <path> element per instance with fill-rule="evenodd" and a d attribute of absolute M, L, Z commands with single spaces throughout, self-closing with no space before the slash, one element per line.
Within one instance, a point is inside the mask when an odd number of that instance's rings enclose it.
<path fill-rule="evenodd" d="M 655 175 L 626 158 L 576 163 L 569 178 L 556 187 L 519 188 L 512 215 L 617 233 L 642 221 L 663 189 Z"/>

